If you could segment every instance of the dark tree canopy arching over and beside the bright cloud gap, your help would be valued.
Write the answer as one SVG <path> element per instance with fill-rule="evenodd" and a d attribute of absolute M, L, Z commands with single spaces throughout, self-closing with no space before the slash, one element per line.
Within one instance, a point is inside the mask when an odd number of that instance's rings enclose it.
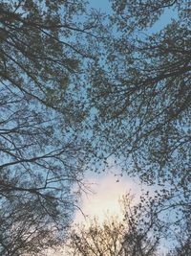
<path fill-rule="evenodd" d="M 83 0 L 0 1 L 2 256 L 62 242 L 83 173 L 110 157 L 159 185 L 149 210 L 172 210 L 187 230 L 189 2 L 110 3 L 106 17 Z M 164 12 L 174 18 L 155 31 Z M 190 230 L 179 241 L 189 254 Z"/>

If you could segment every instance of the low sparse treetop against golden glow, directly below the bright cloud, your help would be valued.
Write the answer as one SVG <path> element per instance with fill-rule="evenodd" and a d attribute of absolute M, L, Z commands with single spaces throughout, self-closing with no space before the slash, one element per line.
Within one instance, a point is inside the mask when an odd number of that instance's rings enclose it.
<path fill-rule="evenodd" d="M 124 226 L 117 220 L 107 220 L 101 226 L 95 219 L 90 227 L 78 226 L 73 230 L 68 243 L 69 255 L 123 255 L 123 234 Z"/>

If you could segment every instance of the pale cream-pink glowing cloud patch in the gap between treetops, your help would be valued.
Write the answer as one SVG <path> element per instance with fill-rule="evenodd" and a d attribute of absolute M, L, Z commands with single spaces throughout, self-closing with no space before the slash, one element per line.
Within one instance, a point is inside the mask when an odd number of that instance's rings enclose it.
<path fill-rule="evenodd" d="M 110 170 L 110 172 L 101 176 L 87 175 L 88 182 L 92 184 L 93 193 L 82 196 L 81 210 L 83 214 L 77 211 L 74 222 L 86 222 L 85 217 L 93 219 L 95 216 L 102 222 L 108 214 L 116 215 L 119 220 L 122 220 L 123 216 L 118 200 L 130 192 L 135 195 L 135 202 L 138 201 L 143 185 L 139 185 L 135 178 L 130 178 L 127 175 L 117 176 L 114 173 L 119 172 Z"/>

